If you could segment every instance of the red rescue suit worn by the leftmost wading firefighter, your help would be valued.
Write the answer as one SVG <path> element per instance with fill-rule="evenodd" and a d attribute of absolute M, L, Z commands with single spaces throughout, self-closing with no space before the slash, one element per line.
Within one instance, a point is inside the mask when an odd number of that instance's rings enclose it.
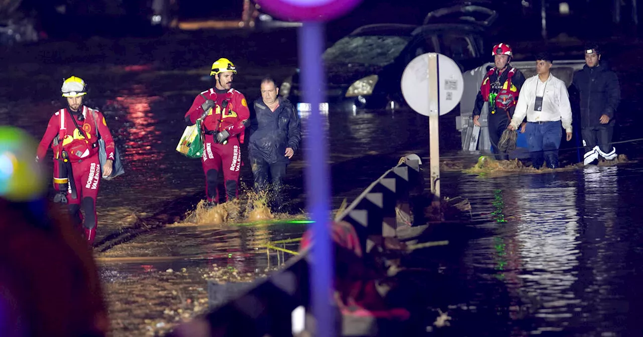
<path fill-rule="evenodd" d="M 74 123 L 76 122 L 76 123 Z M 77 127 L 78 125 L 78 127 Z M 82 107 L 82 114 L 71 112 L 68 109 L 60 109 L 55 112 L 49 121 L 47 130 L 42 136 L 38 146 L 37 159 L 47 154 L 50 144 L 54 157 L 54 186 L 58 185 L 60 173 L 64 168 L 71 167 L 71 175 L 68 176 L 69 184 L 67 200 L 69 213 L 77 225 L 82 223 L 80 208 L 85 212 L 84 226 L 86 230 L 93 230 L 98 224 L 96 218 L 96 195 L 100 186 L 102 168 L 98 160 L 98 133 L 105 141 L 105 152 L 107 159 L 114 160 L 114 140 L 112 138 L 105 117 L 98 110 Z M 80 130 L 79 130 L 80 129 Z M 82 131 L 81 131 L 82 130 Z M 64 160 L 68 160 L 69 164 Z M 71 181 L 73 179 L 73 182 Z M 75 186 L 75 194 L 72 193 L 71 184 Z M 91 233 L 95 235 L 95 232 Z M 89 234 L 87 234 L 89 235 Z"/>

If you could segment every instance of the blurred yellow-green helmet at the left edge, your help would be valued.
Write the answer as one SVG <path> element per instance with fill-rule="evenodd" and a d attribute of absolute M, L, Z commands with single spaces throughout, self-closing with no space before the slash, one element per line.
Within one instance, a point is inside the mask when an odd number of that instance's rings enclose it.
<path fill-rule="evenodd" d="M 35 157 L 37 143 L 19 128 L 0 126 L 0 197 L 28 202 L 46 190 L 42 167 Z"/>

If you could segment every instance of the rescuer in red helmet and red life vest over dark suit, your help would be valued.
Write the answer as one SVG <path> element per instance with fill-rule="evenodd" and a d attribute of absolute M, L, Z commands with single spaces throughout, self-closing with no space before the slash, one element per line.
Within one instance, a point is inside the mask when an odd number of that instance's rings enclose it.
<path fill-rule="evenodd" d="M 491 151 L 496 159 L 509 159 L 507 153 L 501 153 L 498 148 L 498 141 L 502 132 L 509 125 L 511 117 L 518 101 L 520 88 L 525 82 L 525 76 L 520 70 L 511 67 L 512 51 L 508 44 L 496 44 L 493 48 L 495 67 L 489 72 L 480 85 L 480 91 L 476 96 L 475 107 L 473 108 L 473 124 L 480 126 L 480 114 L 485 102 L 489 102 L 489 140 Z M 525 123 L 522 123 L 520 132 L 525 132 Z"/>

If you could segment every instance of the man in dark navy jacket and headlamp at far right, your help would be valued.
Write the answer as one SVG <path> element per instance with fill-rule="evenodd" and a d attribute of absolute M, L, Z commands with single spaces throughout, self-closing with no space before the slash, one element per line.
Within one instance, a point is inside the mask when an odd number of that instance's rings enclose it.
<path fill-rule="evenodd" d="M 600 62 L 601 52 L 596 44 L 585 48 L 585 65 L 574 74 L 572 84 L 578 89 L 581 106 L 581 132 L 585 155 L 583 164 L 597 164 L 599 156 L 616 158 L 611 146 L 614 114 L 619 107 L 619 78 Z"/>

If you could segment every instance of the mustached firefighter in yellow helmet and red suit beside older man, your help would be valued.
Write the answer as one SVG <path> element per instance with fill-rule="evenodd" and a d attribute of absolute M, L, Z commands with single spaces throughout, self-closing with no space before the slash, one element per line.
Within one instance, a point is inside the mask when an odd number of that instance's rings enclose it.
<path fill-rule="evenodd" d="M 240 145 L 250 111 L 245 96 L 232 89 L 232 80 L 237 74 L 235 65 L 227 58 L 219 58 L 212 64 L 210 76 L 214 87 L 201 92 L 185 114 L 187 125 L 197 119 L 203 122 L 203 173 L 206 181 L 208 202 L 219 202 L 217 191 L 219 173 L 223 172 L 226 201 L 239 197 L 239 169 L 241 166 Z"/>

